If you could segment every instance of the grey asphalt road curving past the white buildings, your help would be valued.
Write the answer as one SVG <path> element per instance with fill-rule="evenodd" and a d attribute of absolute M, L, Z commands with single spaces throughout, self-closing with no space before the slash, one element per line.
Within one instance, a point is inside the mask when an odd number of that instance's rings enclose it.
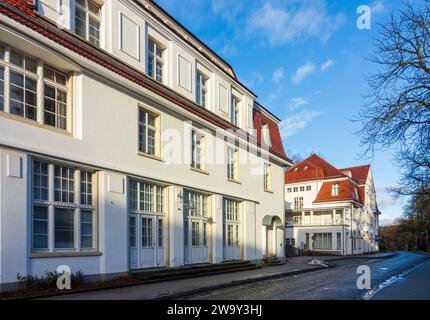
<path fill-rule="evenodd" d="M 366 296 L 371 299 L 393 299 L 396 295 L 402 299 L 406 295 L 419 298 L 420 293 L 416 290 L 414 281 L 426 283 L 424 288 L 430 284 L 430 263 L 410 272 L 404 279 L 403 284 L 396 282 L 381 289 L 379 292 L 357 288 L 357 267 L 368 265 L 371 270 L 371 287 L 378 288 L 387 279 L 395 277 L 402 272 L 410 270 L 423 263 L 427 259 L 421 254 L 399 252 L 397 256 L 390 259 L 380 260 L 342 260 L 333 269 L 301 274 L 293 277 L 276 280 L 262 281 L 258 283 L 237 286 L 232 288 L 215 290 L 212 292 L 186 297 L 191 300 L 357 300 Z M 397 279 L 397 278 L 395 278 Z M 406 284 L 405 284 L 406 283 Z M 405 292 L 398 292 L 398 291 Z M 415 293 L 414 293 L 415 292 Z M 421 290 L 420 290 L 421 292 Z M 426 292 L 427 297 L 429 291 Z M 422 294 L 422 293 L 421 293 Z M 425 299 L 425 296 L 423 296 Z"/>

